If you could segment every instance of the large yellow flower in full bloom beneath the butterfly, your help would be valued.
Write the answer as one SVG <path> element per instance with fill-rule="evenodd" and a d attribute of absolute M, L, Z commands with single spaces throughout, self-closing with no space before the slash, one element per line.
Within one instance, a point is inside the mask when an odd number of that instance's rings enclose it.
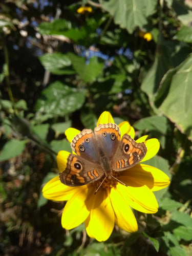
<path fill-rule="evenodd" d="M 97 125 L 100 123 L 114 123 L 114 120 L 109 112 L 103 112 Z M 127 133 L 134 138 L 135 132 L 129 122 L 120 123 L 119 129 L 121 136 Z M 71 142 L 78 133 L 78 130 L 69 128 L 66 136 Z M 147 147 L 147 153 L 142 161 L 154 157 L 159 150 L 157 139 L 146 138 L 147 136 L 143 136 L 137 140 L 144 142 Z M 57 164 L 60 172 L 65 170 L 69 154 L 66 151 L 58 153 Z M 98 181 L 70 187 L 62 184 L 59 177 L 56 177 L 44 186 L 42 193 L 50 200 L 68 201 L 61 217 L 63 228 L 72 229 L 84 222 L 91 238 L 105 241 L 110 237 L 115 224 L 128 232 L 137 231 L 137 221 L 132 208 L 147 214 L 157 212 L 158 203 L 153 191 L 169 184 L 168 176 L 160 169 L 142 163 L 119 172 L 118 179 L 121 183 L 115 179 L 103 182 L 95 194 Z"/>

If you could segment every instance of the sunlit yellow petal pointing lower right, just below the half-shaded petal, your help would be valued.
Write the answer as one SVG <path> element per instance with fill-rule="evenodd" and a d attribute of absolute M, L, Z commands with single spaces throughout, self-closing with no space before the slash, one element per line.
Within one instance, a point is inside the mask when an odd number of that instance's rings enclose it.
<path fill-rule="evenodd" d="M 124 200 L 132 208 L 144 212 L 146 214 L 154 214 L 158 211 L 158 203 L 153 192 L 147 186 L 137 187 L 124 186 L 117 184 L 117 189 Z"/>

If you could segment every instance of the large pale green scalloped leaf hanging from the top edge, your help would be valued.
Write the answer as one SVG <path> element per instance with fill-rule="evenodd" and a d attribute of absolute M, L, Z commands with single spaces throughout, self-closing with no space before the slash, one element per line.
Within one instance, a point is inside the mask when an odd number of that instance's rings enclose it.
<path fill-rule="evenodd" d="M 157 3 L 157 0 L 101 1 L 103 9 L 114 17 L 114 22 L 130 33 L 133 33 L 137 26 L 143 28 L 147 24 L 147 17 L 157 11 Z"/>

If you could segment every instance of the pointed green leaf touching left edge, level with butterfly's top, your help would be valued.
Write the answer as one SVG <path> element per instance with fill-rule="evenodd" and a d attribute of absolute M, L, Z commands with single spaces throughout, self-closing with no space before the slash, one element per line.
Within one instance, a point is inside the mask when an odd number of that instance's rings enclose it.
<path fill-rule="evenodd" d="M 0 161 L 8 160 L 12 157 L 17 157 L 25 150 L 25 144 L 28 140 L 12 139 L 8 141 L 2 148 Z"/>

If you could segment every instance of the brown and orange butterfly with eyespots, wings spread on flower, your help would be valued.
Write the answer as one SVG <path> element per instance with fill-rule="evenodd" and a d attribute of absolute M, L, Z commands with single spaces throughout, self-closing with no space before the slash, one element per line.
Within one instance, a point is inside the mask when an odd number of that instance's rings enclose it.
<path fill-rule="evenodd" d="M 115 123 L 99 124 L 94 132 L 84 129 L 71 142 L 72 150 L 66 169 L 59 174 L 60 181 L 67 186 L 81 186 L 102 177 L 113 177 L 115 172 L 129 169 L 145 156 L 147 148 L 137 143 L 130 135 L 121 138 Z"/>

